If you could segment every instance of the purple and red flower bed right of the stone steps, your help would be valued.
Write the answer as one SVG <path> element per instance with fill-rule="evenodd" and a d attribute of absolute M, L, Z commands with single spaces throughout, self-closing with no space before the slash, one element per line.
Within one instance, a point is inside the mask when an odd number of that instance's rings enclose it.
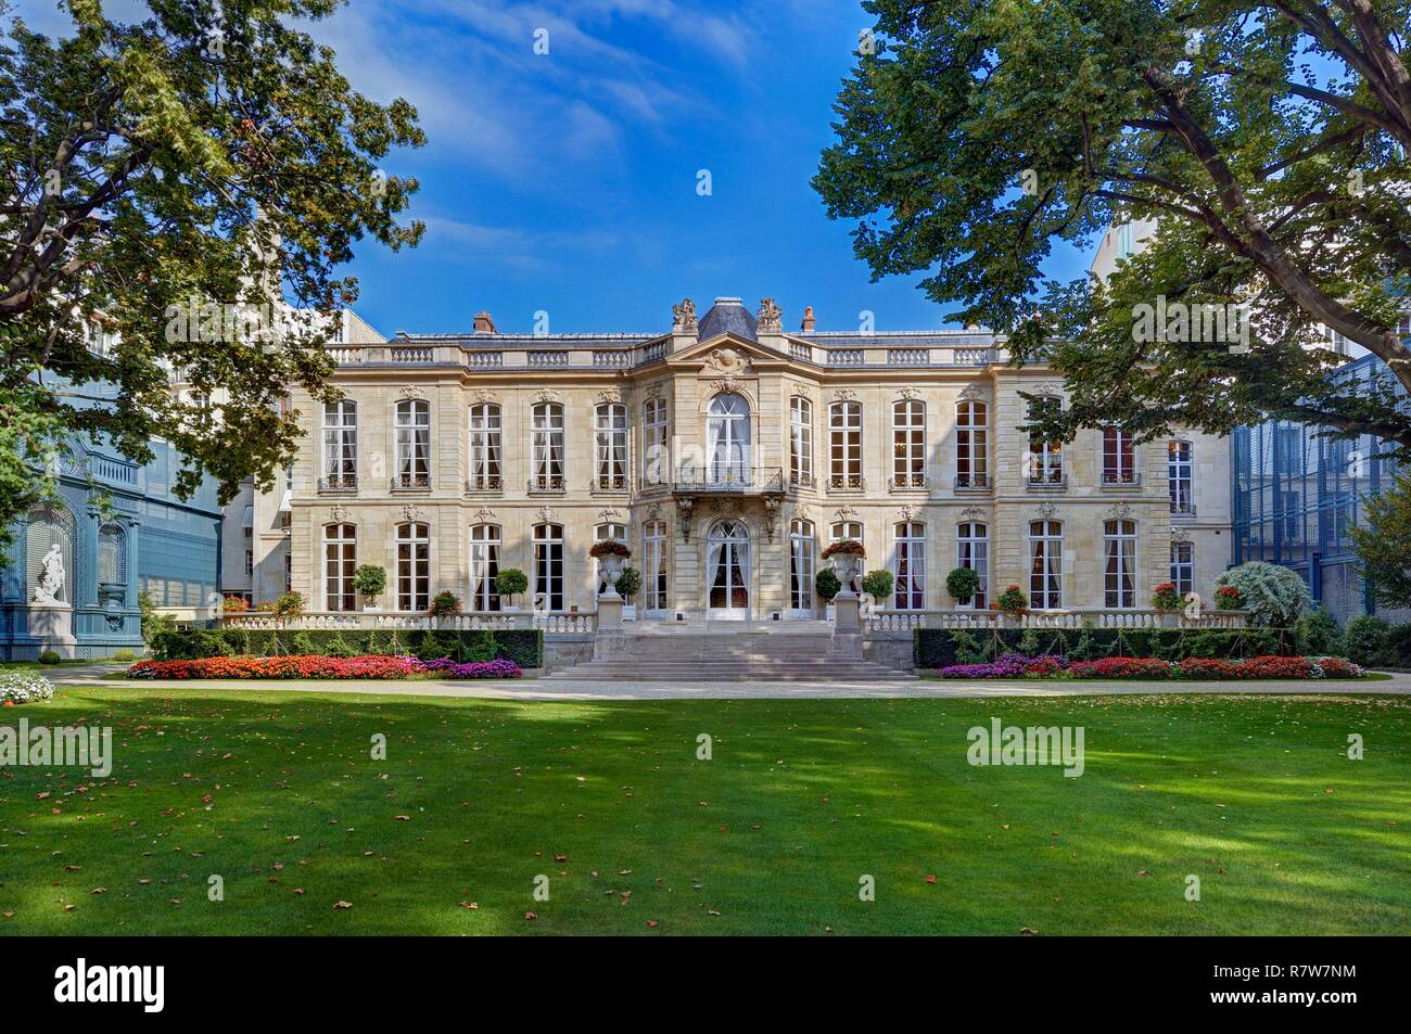
<path fill-rule="evenodd" d="M 1362 679 L 1357 664 L 1342 657 L 1187 657 L 1181 662 L 1157 657 L 1102 657 L 1067 660 L 1064 657 L 1026 657 L 1006 653 L 985 664 L 950 664 L 937 670 L 941 679 Z"/>

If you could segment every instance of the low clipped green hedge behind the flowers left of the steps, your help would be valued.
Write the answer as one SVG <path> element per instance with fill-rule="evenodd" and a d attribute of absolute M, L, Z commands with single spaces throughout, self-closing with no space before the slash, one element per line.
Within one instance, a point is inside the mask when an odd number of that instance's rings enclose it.
<path fill-rule="evenodd" d="M 312 653 L 327 657 L 365 655 L 412 655 L 428 660 L 450 657 L 466 663 L 504 657 L 519 667 L 543 667 L 543 632 L 538 629 L 450 629 L 388 633 L 378 629 L 275 632 L 271 629 L 172 629 L 151 645 L 157 660 L 190 660 L 217 656 L 270 657 L 285 653 Z"/>

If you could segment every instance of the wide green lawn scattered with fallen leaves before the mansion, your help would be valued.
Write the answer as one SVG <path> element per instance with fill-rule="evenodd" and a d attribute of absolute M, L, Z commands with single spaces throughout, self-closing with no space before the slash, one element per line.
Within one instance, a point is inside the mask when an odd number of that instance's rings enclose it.
<path fill-rule="evenodd" d="M 967 729 L 991 715 L 1084 726 L 1086 773 L 969 766 Z M 99 781 L 0 769 L 0 934 L 1411 930 L 1400 697 L 502 702 L 193 686 L 68 688 L 0 724 L 21 717 L 111 724 L 116 766 Z M 696 759 L 703 732 L 714 760 Z M 1346 758 L 1353 732 L 1366 760 Z M 207 900 L 212 873 L 223 901 Z M 858 900 L 864 873 L 875 901 Z M 531 899 L 538 875 L 547 901 Z"/>

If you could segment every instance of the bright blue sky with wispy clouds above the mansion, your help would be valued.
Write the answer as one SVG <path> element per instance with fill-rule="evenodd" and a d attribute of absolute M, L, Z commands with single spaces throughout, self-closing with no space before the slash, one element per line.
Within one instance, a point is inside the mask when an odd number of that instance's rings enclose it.
<path fill-rule="evenodd" d="M 358 313 L 387 334 L 470 330 L 481 309 L 511 333 L 540 309 L 556 333 L 662 332 L 683 296 L 770 295 L 786 329 L 806 305 L 820 330 L 864 309 L 879 330 L 945 326 L 917 278 L 869 282 L 809 186 L 869 24 L 827 0 L 351 0 L 316 34 L 354 87 L 416 104 L 429 138 L 387 162 L 420 181 L 426 238 L 360 247 Z M 1085 265 L 1070 251 L 1051 272 Z"/>

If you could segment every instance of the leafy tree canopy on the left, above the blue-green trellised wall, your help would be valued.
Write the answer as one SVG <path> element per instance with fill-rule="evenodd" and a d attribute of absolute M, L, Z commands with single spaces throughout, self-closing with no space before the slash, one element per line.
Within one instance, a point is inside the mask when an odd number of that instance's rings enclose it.
<path fill-rule="evenodd" d="M 363 237 L 423 229 L 398 221 L 416 181 L 378 165 L 425 142 L 415 109 L 299 28 L 339 3 L 65 0 L 47 37 L 0 0 L 0 536 L 82 437 L 138 463 L 168 440 L 181 494 L 291 461 L 279 403 L 332 371 L 329 320 L 295 313 L 357 298 L 337 267 Z"/>

